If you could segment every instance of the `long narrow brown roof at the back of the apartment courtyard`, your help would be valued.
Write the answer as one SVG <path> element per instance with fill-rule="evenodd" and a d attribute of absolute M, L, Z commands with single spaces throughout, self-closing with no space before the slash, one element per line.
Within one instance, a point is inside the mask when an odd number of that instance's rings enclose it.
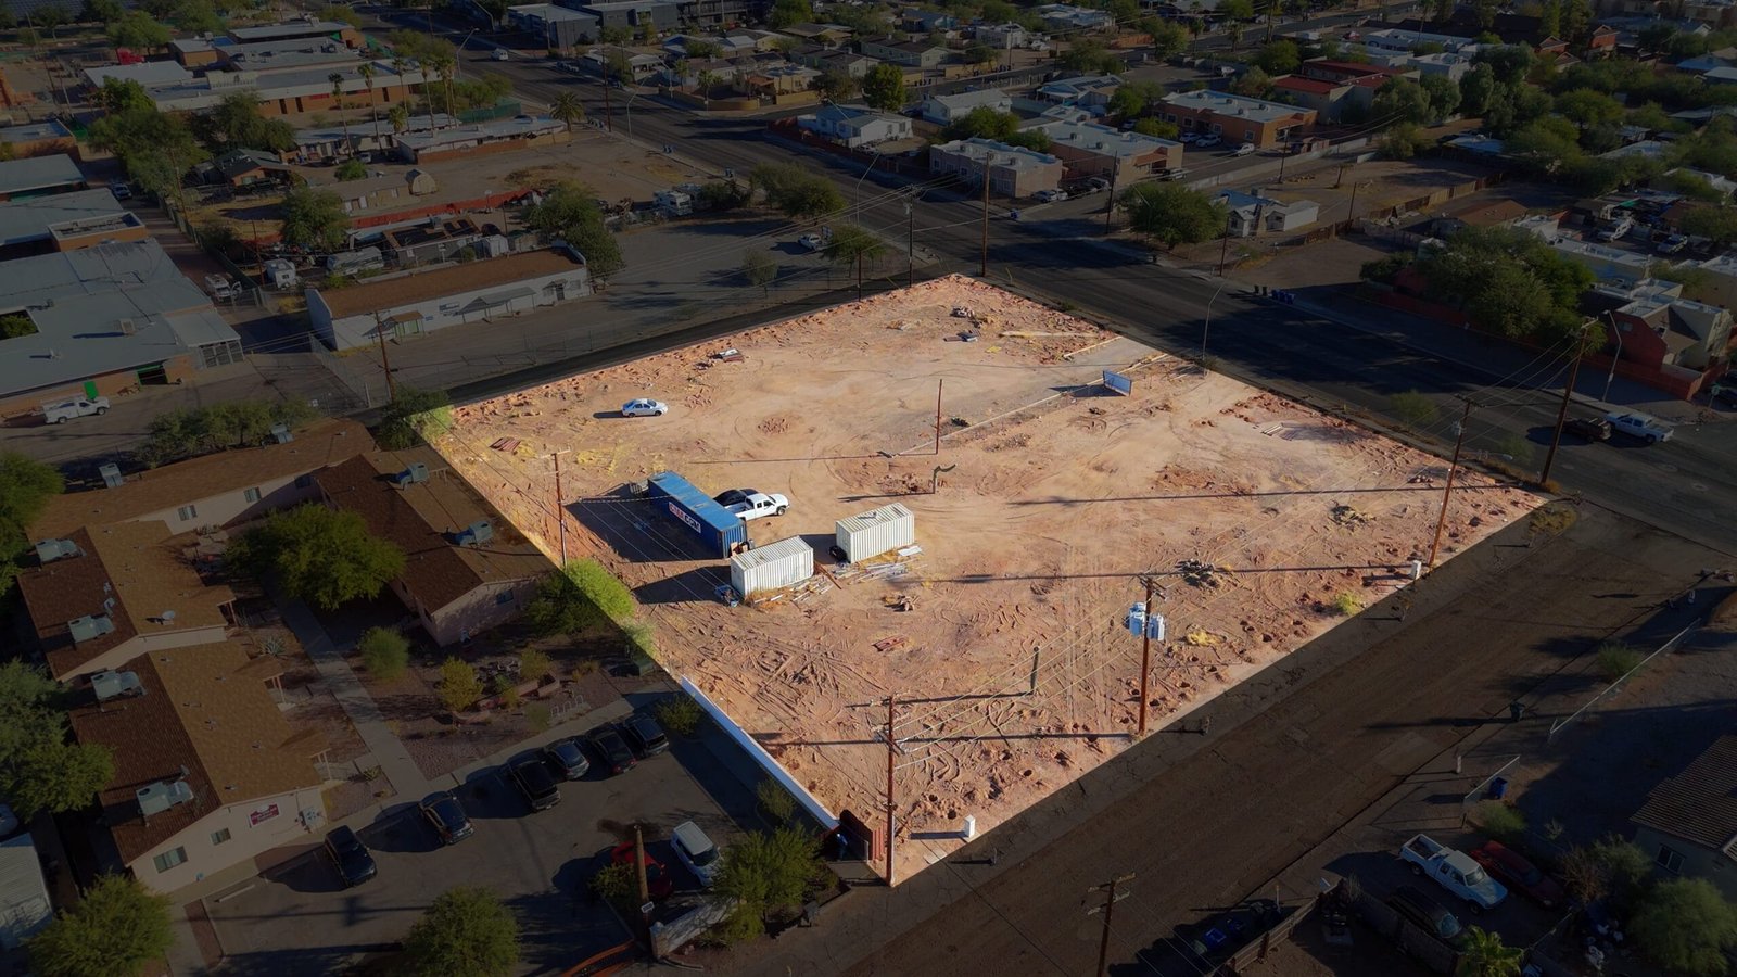
<path fill-rule="evenodd" d="M 137 520 L 271 478 L 313 471 L 373 450 L 368 429 L 354 421 L 321 421 L 287 445 L 217 452 L 165 464 L 127 478 L 120 488 L 68 492 L 49 502 L 31 525 L 33 539 L 56 539 L 87 525 Z"/>

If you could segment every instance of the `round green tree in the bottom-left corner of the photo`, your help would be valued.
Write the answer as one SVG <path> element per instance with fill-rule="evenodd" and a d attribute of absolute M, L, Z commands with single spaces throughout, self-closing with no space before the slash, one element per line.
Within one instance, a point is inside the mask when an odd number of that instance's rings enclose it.
<path fill-rule="evenodd" d="M 139 977 L 174 944 L 168 897 L 130 876 L 104 874 L 31 937 L 28 951 L 40 977 Z"/>

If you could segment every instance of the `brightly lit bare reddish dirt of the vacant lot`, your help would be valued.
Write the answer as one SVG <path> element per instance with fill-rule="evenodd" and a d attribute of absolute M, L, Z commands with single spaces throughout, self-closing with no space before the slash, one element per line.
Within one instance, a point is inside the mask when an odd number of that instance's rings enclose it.
<path fill-rule="evenodd" d="M 971 327 L 955 306 L 976 313 L 980 341 L 947 341 Z M 745 358 L 709 358 L 723 346 Z M 1134 395 L 1103 395 L 1105 369 L 1133 374 Z M 617 417 L 634 396 L 670 414 Z M 441 450 L 551 553 L 551 452 L 565 452 L 570 556 L 615 568 L 657 624 L 660 662 L 827 807 L 879 824 L 875 730 L 898 695 L 898 814 L 917 838 L 968 814 L 987 829 L 1131 742 L 1141 648 L 1120 619 L 1139 575 L 1169 621 L 1155 728 L 1329 631 L 1341 600 L 1400 588 L 1445 476 L 1431 455 L 966 278 L 455 415 Z M 952 469 L 929 494 L 936 466 Z M 752 537 L 801 534 L 822 575 L 757 607 L 716 601 L 723 560 L 624 490 L 660 469 L 707 492 L 790 495 Z M 1536 504 L 1476 475 L 1461 485 L 1443 555 Z M 834 567 L 834 520 L 891 501 L 915 513 L 921 555 L 877 574 Z M 1181 560 L 1216 570 L 1188 582 Z M 905 857 L 902 874 L 921 867 Z"/>

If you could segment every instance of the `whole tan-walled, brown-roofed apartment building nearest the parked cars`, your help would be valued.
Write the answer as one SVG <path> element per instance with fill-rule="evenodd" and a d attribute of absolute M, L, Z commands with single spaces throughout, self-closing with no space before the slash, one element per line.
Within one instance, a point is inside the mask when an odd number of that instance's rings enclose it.
<path fill-rule="evenodd" d="M 115 758 L 101 824 L 148 888 L 175 892 L 325 826 L 327 742 L 290 728 L 280 675 L 271 655 L 219 641 L 156 648 L 75 688 L 73 735 Z"/>

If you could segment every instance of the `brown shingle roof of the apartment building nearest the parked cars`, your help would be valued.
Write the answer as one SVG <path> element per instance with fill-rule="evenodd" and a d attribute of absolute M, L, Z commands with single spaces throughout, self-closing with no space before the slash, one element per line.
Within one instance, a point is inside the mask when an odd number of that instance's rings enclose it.
<path fill-rule="evenodd" d="M 78 741 L 115 754 L 99 800 L 123 862 L 221 807 L 320 784 L 313 758 L 325 744 L 304 737 L 292 748 L 290 725 L 245 666 L 247 654 L 229 643 L 139 655 L 125 668 L 144 695 L 73 709 Z M 193 800 L 146 821 L 135 791 L 177 781 L 182 767 Z"/>

